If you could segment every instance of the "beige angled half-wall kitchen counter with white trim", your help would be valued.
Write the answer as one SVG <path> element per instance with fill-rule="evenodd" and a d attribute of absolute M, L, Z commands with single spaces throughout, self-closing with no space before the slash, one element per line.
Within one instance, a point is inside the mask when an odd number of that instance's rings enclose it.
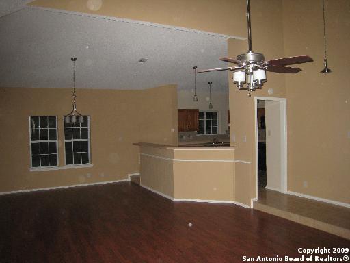
<path fill-rule="evenodd" d="M 234 147 L 140 142 L 141 186 L 174 201 L 234 202 Z"/>

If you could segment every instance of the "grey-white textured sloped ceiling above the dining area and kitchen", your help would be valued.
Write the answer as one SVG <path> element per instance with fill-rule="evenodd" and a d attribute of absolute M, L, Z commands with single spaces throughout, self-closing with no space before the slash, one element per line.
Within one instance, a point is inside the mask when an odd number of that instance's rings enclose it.
<path fill-rule="evenodd" d="M 0 86 L 193 88 L 192 67 L 227 66 L 227 37 L 79 13 L 25 8 L 0 18 Z M 145 64 L 137 64 L 147 58 Z M 227 90 L 228 73 L 197 75 L 198 90 Z"/>

